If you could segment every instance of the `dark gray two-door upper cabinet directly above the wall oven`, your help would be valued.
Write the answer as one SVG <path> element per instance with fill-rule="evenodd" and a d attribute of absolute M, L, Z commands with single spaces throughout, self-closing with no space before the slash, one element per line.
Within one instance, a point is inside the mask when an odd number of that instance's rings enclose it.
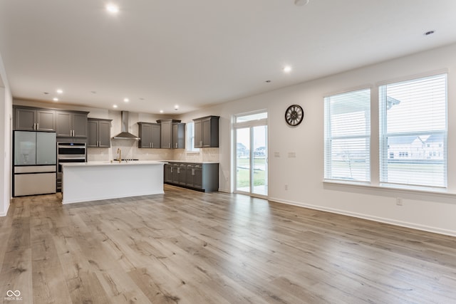
<path fill-rule="evenodd" d="M 57 137 L 87 137 L 88 112 L 57 111 Z"/>

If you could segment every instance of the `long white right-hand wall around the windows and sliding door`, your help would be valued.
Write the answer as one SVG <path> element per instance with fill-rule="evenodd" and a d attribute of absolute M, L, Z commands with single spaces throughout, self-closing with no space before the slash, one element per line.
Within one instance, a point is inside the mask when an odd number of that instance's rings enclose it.
<path fill-rule="evenodd" d="M 269 93 L 217 105 L 183 115 L 182 119 L 220 115 L 220 185 L 232 191 L 231 117 L 237 113 L 266 108 L 269 112 L 269 199 L 307 206 L 366 219 L 374 219 L 415 229 L 456 236 L 456 45 L 438 48 L 413 56 L 351 70 L 338 75 L 301 83 Z M 380 187 L 354 187 L 323 183 L 323 96 L 353 88 L 448 70 L 448 184 L 446 194 L 401 191 Z M 304 122 L 288 127 L 284 112 L 289 105 L 304 108 Z M 378 112 L 373 105 L 373 112 Z M 373 119 L 378 122 L 378 119 Z M 373 131 L 378 134 L 378 127 Z M 373 137 L 374 139 L 377 137 Z M 373 142 L 378 150 L 378 142 Z M 279 152 L 280 157 L 274 157 Z M 296 152 L 296 158 L 286 157 Z M 378 160 L 373 159 L 373 167 Z M 376 171 L 375 171 L 376 170 Z M 378 173 L 378 169 L 373 169 Z M 373 183 L 378 177 L 373 177 Z M 285 184 L 288 190 L 285 190 Z M 396 197 L 403 206 L 396 205 Z"/>

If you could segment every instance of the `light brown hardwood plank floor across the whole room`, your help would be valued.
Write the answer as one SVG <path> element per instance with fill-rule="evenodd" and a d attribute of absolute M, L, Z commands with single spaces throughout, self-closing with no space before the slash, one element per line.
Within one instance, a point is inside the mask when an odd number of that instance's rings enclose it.
<path fill-rule="evenodd" d="M 171 186 L 60 199 L 0 218 L 4 303 L 456 303 L 454 237 Z"/>

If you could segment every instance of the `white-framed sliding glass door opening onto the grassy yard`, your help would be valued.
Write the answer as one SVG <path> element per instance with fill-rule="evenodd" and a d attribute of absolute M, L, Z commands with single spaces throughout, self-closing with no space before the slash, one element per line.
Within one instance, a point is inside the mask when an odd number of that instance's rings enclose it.
<path fill-rule="evenodd" d="M 234 124 L 236 192 L 268 195 L 267 112 L 238 115 Z"/>

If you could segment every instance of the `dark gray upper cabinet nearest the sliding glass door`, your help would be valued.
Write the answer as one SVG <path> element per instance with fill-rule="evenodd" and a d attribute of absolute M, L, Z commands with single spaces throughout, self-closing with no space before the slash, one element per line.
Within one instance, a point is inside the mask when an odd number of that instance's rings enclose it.
<path fill-rule="evenodd" d="M 219 147 L 219 116 L 195 120 L 195 148 Z"/>

